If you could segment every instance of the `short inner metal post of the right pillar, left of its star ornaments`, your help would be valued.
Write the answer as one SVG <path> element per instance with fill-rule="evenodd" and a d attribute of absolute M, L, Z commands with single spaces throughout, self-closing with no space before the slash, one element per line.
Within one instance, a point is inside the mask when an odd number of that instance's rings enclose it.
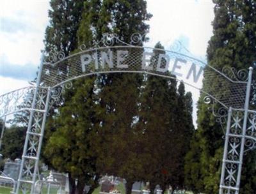
<path fill-rule="evenodd" d="M 227 159 L 227 152 L 228 152 L 228 135 L 230 132 L 230 123 L 231 123 L 231 116 L 232 116 L 232 108 L 228 108 L 228 121 L 227 121 L 227 130 L 225 135 L 225 147 L 223 152 L 223 161 L 222 161 L 222 167 L 221 167 L 221 179 L 220 179 L 220 194 L 223 194 L 223 188 L 224 185 L 224 178 L 225 178 L 225 167 L 226 167 L 226 159 Z"/>

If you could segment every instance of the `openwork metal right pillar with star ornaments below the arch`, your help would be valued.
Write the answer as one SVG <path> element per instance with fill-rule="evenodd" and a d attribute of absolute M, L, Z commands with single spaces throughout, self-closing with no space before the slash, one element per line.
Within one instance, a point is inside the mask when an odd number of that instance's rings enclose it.
<path fill-rule="evenodd" d="M 247 120 L 244 122 L 245 112 L 234 108 L 230 108 L 228 112 L 220 194 L 239 193 L 243 154 L 256 148 L 256 112 L 248 110 Z"/>

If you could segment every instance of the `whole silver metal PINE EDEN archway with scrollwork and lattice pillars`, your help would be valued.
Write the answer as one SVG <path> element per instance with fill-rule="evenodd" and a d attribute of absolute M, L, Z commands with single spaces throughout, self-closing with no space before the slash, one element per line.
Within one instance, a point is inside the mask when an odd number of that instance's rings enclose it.
<path fill-rule="evenodd" d="M 220 194 L 239 193 L 243 154 L 256 147 L 256 112 L 248 110 L 252 68 L 236 71 L 217 70 L 176 50 L 140 47 L 143 36 L 135 33 L 125 43 L 116 34 L 104 34 L 96 47 L 65 57 L 54 52 L 42 61 L 36 86 L 18 89 L 0 96 L 0 117 L 27 112 L 28 130 L 16 193 L 34 193 L 38 161 L 47 112 L 60 100 L 61 91 L 72 87 L 72 80 L 99 73 L 147 73 L 182 80 L 205 95 L 205 103 L 218 103 L 216 121 L 227 124 L 221 170 Z M 102 47 L 99 47 L 102 45 Z M 180 46 L 180 45 L 178 45 Z M 170 73 L 171 72 L 171 73 Z M 218 80 L 212 84 L 211 80 Z M 204 87 L 202 89 L 202 83 Z M 207 87 L 208 86 L 208 87 Z M 25 101 L 20 105 L 21 101 Z"/>

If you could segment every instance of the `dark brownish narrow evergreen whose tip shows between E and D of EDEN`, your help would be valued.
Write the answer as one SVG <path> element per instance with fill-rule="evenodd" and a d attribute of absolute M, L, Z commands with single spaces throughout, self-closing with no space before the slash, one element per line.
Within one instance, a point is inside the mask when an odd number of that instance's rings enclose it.
<path fill-rule="evenodd" d="M 164 54 L 161 43 L 157 43 L 154 49 L 154 56 L 150 60 L 150 66 L 155 67 L 159 54 Z M 169 184 L 169 177 L 172 174 L 174 152 L 172 149 L 172 131 L 170 126 L 171 107 L 175 107 L 177 101 L 176 82 L 162 77 L 145 75 L 143 86 L 141 87 L 140 106 L 137 123 L 138 131 L 140 131 L 141 146 L 145 168 L 143 180 L 150 181 L 150 192 L 154 193 L 157 184 L 165 190 Z M 173 98 L 173 101 L 171 101 Z M 176 103 L 177 104 L 177 103 Z M 171 142 L 171 143 L 170 143 Z"/>

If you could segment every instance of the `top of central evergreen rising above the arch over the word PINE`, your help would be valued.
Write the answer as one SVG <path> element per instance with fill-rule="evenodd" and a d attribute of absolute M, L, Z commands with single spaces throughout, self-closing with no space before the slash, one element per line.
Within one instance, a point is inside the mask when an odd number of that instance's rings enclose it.
<path fill-rule="evenodd" d="M 91 0 L 84 2 L 84 10 L 77 36 L 79 44 L 88 47 L 104 33 L 116 33 L 129 42 L 132 33 L 148 32 L 145 21 L 152 17 L 147 13 L 145 0 Z"/>

